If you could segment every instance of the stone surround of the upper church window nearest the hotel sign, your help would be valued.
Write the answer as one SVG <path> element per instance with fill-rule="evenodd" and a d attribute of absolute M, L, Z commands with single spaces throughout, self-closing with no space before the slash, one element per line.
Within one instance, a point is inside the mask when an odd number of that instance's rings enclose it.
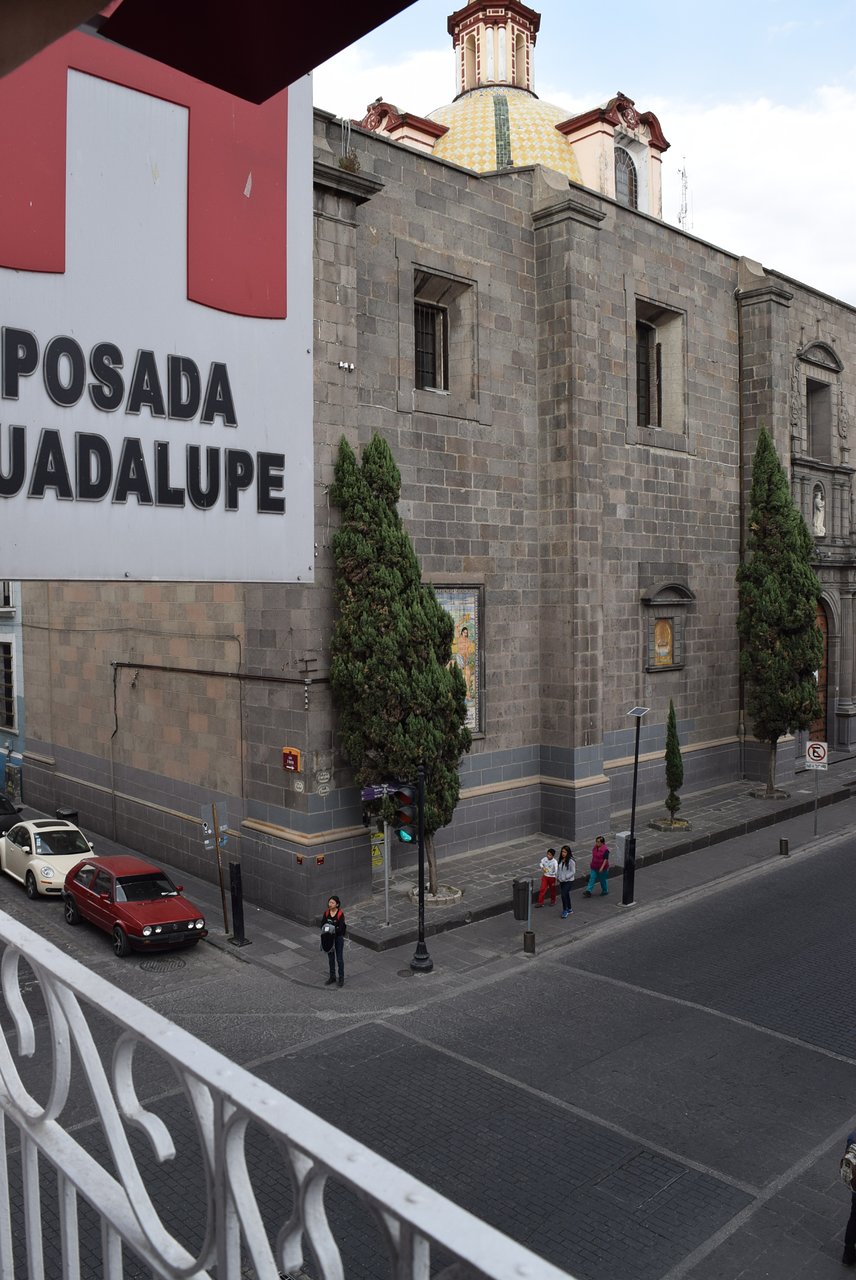
<path fill-rule="evenodd" d="M 486 393 L 489 343 L 484 300 L 490 270 L 453 253 L 438 253 L 409 241 L 395 241 L 398 261 L 398 410 L 435 413 L 490 425 Z M 443 306 L 448 314 L 448 389 L 416 385 L 416 302 Z"/>

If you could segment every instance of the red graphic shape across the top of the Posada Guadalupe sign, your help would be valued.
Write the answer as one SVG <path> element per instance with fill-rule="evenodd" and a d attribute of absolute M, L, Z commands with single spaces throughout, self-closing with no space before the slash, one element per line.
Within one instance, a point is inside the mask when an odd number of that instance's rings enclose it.
<path fill-rule="evenodd" d="M 187 296 L 284 317 L 288 90 L 256 106 L 81 32 L 0 81 L 0 266 L 65 271 L 69 68 L 187 108 Z"/>

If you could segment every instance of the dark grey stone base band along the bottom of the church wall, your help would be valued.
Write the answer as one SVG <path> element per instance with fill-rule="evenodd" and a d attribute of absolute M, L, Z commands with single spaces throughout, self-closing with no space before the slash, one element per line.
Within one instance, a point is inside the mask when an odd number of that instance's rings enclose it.
<path fill-rule="evenodd" d="M 781 755 L 787 771 L 787 750 Z M 436 836 L 439 858 L 537 835 L 575 841 L 578 831 L 596 826 L 609 831 L 610 813 L 630 808 L 632 763 L 608 767 L 603 782 L 595 776 L 591 783 L 573 783 L 539 781 L 534 758 L 540 759 L 540 753 L 494 753 L 490 759 L 467 762 L 470 786 L 453 823 Z M 687 792 L 732 781 L 736 764 L 736 744 L 690 753 L 685 758 Z M 371 897 L 369 831 L 360 823 L 354 788 L 324 800 L 312 797 L 316 810 L 308 818 L 274 808 L 248 814 L 239 796 L 215 795 L 127 767 L 115 769 L 111 780 L 105 762 L 84 753 L 54 751 L 44 742 L 29 744 L 24 776 L 26 804 L 46 813 L 58 806 L 75 809 L 81 826 L 93 835 L 96 850 L 101 833 L 210 883 L 218 883 L 218 860 L 203 846 L 201 818 L 203 806 L 216 803 L 219 814 L 228 813 L 232 832 L 221 852 L 226 896 L 228 863 L 237 860 L 248 902 L 264 901 L 270 910 L 301 923 L 315 922 L 330 893 L 351 902 Z M 640 763 L 640 804 L 665 794 L 662 778 L 662 759 Z M 473 780 L 479 780 L 476 786 Z M 280 836 L 276 828 L 288 824 L 294 831 L 294 819 L 312 829 L 301 837 Z M 271 829 L 264 829 L 265 824 Z M 415 860 L 412 849 L 393 844 L 393 872 L 415 865 Z"/>

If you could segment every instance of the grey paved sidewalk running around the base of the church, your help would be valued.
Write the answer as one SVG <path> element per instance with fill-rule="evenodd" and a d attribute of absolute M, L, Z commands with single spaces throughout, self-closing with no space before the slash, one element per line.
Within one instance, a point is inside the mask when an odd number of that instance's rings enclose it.
<path fill-rule="evenodd" d="M 783 838 L 789 841 L 792 851 L 812 841 L 812 774 L 798 774 L 788 799 L 756 800 L 750 796 L 750 783 L 732 783 L 686 796 L 681 815 L 692 823 L 690 832 L 658 832 L 649 827 L 649 822 L 664 817 L 663 806 L 637 806 L 637 901 L 645 906 L 665 901 L 676 893 L 704 887 L 724 876 L 775 859 Z M 818 836 L 856 823 L 856 759 L 841 760 L 828 772 L 820 772 L 818 792 Z M 617 847 L 615 831 L 628 827 L 630 813 L 613 815 L 612 829 L 604 832 L 613 852 Z M 761 835 L 756 836 L 757 832 Z M 608 901 L 600 899 L 599 891 L 592 899 L 582 896 L 595 835 L 595 831 L 586 832 L 575 841 L 578 858 L 572 916 L 563 920 L 558 906 L 532 913 L 539 951 L 583 937 L 604 922 L 614 920 L 622 911 L 622 868 L 617 858 L 613 858 L 613 888 Z M 101 840 L 100 845 L 104 844 Z M 560 844 L 557 837 L 528 836 L 441 859 L 440 882 L 454 884 L 462 896 L 450 906 L 426 905 L 425 934 L 431 940 L 435 977 L 441 974 L 443 980 L 462 980 L 475 968 L 522 952 L 526 925 L 512 915 L 512 882 L 531 877 L 536 887 L 537 864 L 544 850 L 548 845 L 558 847 Z M 166 860 L 164 865 L 170 869 Z M 238 947 L 224 924 L 219 886 L 175 869 L 173 874 L 183 881 L 188 895 L 205 911 L 211 945 L 299 984 L 316 984 L 322 960 L 319 957 L 317 929 L 244 902 L 248 945 Z M 383 883 L 372 899 L 343 904 L 351 937 L 348 972 L 360 979 L 361 988 L 367 993 L 388 992 L 390 983 L 394 986 L 400 977 L 409 977 L 411 947 L 417 940 L 417 908 L 409 897 L 415 883 L 415 870 L 397 873 L 392 878 L 389 923 Z M 402 951 L 397 954 L 397 948 Z M 380 963 L 381 959 L 384 963 Z"/>

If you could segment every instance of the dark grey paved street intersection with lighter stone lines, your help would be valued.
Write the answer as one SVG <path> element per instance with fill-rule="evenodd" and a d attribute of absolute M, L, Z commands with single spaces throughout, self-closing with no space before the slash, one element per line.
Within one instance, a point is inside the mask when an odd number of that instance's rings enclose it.
<path fill-rule="evenodd" d="M 534 957 L 509 915 L 431 937 L 430 975 L 411 945 L 352 945 L 342 991 L 317 934 L 262 911 L 242 951 L 120 961 L 12 882 L 0 908 L 580 1280 L 824 1280 L 856 1124 L 856 801 L 816 841 L 811 822 L 789 858 L 775 828 L 645 868 L 630 911 L 613 892 L 536 913 Z M 192 1152 L 183 1100 L 146 1084 Z M 279 1225 L 287 1178 L 261 1137 L 256 1155 Z M 202 1193 L 179 1174 L 151 1171 L 192 1236 Z M 347 1275 L 385 1275 L 360 1204 L 328 1199 Z"/>

